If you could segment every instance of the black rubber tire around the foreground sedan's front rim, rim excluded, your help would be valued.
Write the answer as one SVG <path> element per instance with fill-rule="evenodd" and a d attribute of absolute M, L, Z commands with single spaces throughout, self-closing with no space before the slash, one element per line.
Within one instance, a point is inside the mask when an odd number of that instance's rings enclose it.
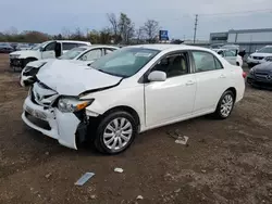
<path fill-rule="evenodd" d="M 103 141 L 103 133 L 106 131 L 107 126 L 116 118 L 125 118 L 131 123 L 132 136 L 131 136 L 128 142 L 123 148 L 121 148 L 120 150 L 112 150 L 106 145 L 106 143 Z M 100 124 L 98 125 L 98 128 L 96 131 L 94 144 L 95 144 L 96 149 L 101 153 L 118 154 L 118 153 L 125 151 L 132 144 L 136 135 L 137 135 L 137 124 L 135 122 L 135 118 L 127 112 L 115 111 L 115 112 L 110 113 L 109 115 L 104 116 L 100 120 Z"/>

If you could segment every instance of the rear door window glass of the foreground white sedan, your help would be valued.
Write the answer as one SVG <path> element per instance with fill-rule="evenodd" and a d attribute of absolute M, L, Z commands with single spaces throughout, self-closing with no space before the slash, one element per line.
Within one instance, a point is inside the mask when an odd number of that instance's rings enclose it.
<path fill-rule="evenodd" d="M 193 51 L 196 73 L 221 69 L 223 66 L 219 60 L 209 52 Z"/>

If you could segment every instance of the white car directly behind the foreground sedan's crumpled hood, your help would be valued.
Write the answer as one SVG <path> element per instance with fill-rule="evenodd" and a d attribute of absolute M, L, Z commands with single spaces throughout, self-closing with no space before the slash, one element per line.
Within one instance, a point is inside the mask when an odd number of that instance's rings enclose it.
<path fill-rule="evenodd" d="M 83 46 L 78 48 L 73 48 L 69 50 L 63 55 L 58 58 L 58 60 L 70 60 L 75 61 L 84 65 L 90 65 L 97 59 L 118 50 L 118 47 L 112 46 Z M 54 59 L 55 60 L 55 59 Z M 52 63 L 53 59 L 46 59 L 29 62 L 21 73 L 20 84 L 21 86 L 29 86 L 35 81 L 36 74 L 38 71 L 47 63 Z"/>

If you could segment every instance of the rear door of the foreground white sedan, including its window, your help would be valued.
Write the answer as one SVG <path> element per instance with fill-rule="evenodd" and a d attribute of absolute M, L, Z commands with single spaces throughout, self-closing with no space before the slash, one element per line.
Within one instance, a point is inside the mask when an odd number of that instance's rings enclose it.
<path fill-rule="evenodd" d="M 191 51 L 197 81 L 194 115 L 214 110 L 222 93 L 228 88 L 230 72 L 215 55 L 206 51 Z"/>

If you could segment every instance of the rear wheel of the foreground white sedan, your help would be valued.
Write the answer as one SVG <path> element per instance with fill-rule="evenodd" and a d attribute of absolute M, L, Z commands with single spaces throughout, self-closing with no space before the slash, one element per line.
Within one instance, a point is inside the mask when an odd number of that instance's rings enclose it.
<path fill-rule="evenodd" d="M 227 118 L 234 106 L 234 93 L 231 90 L 225 91 L 221 99 L 219 100 L 217 111 L 214 112 L 215 117 L 220 119 L 225 119 Z"/>

